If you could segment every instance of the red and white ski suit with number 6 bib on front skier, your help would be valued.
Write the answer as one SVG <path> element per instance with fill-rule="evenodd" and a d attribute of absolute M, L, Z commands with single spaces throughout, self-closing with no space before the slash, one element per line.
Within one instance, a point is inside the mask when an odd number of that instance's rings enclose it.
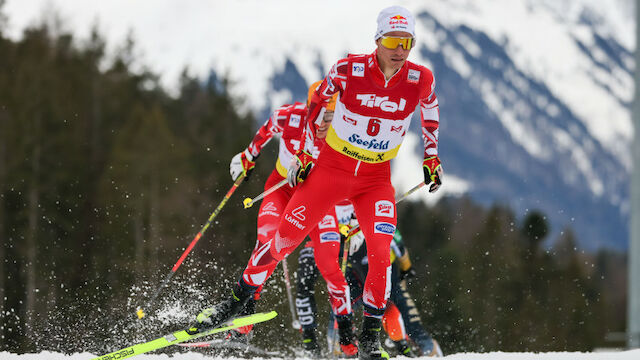
<path fill-rule="evenodd" d="M 396 207 L 389 160 L 397 154 L 418 106 L 425 157 L 437 155 L 439 110 L 434 87 L 431 71 L 409 61 L 386 80 L 374 52 L 338 61 L 309 105 L 307 127 L 313 134 L 319 103 L 339 93 L 327 145 L 289 200 L 272 254 L 282 259 L 329 208 L 350 200 L 368 249 L 363 293 L 367 316 L 382 317 L 391 291 L 389 251 Z"/>

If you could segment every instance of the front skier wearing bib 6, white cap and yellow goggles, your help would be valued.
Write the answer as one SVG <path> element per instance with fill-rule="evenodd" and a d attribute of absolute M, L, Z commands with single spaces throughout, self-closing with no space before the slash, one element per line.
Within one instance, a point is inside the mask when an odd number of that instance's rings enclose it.
<path fill-rule="evenodd" d="M 296 152 L 287 173 L 290 185 L 301 184 L 283 211 L 274 239 L 267 243 L 273 260 L 264 264 L 266 274 L 273 271 L 331 206 L 345 198 L 350 200 L 367 241 L 369 258 L 364 320 L 358 338 L 361 359 L 388 357 L 380 346 L 379 332 L 391 291 L 387 274 L 391 271 L 389 251 L 396 227 L 389 160 L 396 156 L 416 107 L 422 119 L 425 183 L 431 184 L 429 190 L 433 192 L 442 179 L 435 80 L 429 69 L 407 61 L 415 44 L 415 19 L 407 9 L 392 6 L 380 12 L 377 23 L 376 51 L 339 60 L 309 104 L 308 131 L 301 138 L 305 145 Z M 316 161 L 311 155 L 318 127 L 315 121 L 322 103 L 336 93 L 339 95 L 327 146 Z M 238 314 L 257 287 L 242 277 L 231 297 L 218 303 L 214 311 L 198 316 L 199 326 L 217 326 Z"/>

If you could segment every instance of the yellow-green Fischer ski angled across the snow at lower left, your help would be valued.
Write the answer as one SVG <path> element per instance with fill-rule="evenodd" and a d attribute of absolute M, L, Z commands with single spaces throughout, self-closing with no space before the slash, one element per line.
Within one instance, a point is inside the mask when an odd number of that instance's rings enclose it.
<path fill-rule="evenodd" d="M 225 325 L 223 325 L 222 327 L 213 328 L 210 330 L 204 330 L 201 332 L 196 332 L 197 330 L 195 328 L 180 330 L 180 331 L 176 331 L 171 334 L 165 335 L 161 338 L 151 340 L 146 343 L 136 344 L 118 351 L 114 351 L 110 354 L 98 356 L 97 358 L 93 358 L 92 360 L 126 359 L 136 355 L 144 354 L 149 351 L 162 349 L 170 345 L 175 345 L 181 342 L 197 339 L 199 337 L 271 320 L 274 317 L 276 317 L 276 315 L 278 314 L 275 311 L 271 311 L 268 313 L 256 313 L 253 315 L 235 318 L 230 322 L 226 323 Z"/>

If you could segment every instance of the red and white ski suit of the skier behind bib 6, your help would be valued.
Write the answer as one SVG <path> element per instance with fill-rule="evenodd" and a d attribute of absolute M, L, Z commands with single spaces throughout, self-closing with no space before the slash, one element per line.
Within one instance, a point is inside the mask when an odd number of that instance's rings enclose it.
<path fill-rule="evenodd" d="M 278 108 L 258 130 L 248 146 L 249 152 L 255 157 L 275 134 L 281 134 L 278 160 L 265 183 L 265 190 L 286 178 L 287 167 L 293 154 L 300 148 L 300 137 L 305 126 L 306 115 L 306 105 L 299 102 Z M 317 157 L 322 146 L 324 146 L 324 140 L 315 139 L 311 149 L 312 154 Z M 272 257 L 270 248 L 283 210 L 295 190 L 295 188 L 283 186 L 262 200 L 258 212 L 258 239 L 242 274 L 244 282 L 251 286 L 261 287 L 278 264 L 278 261 Z M 338 263 L 340 233 L 335 210 L 325 210 L 311 228 L 309 236 L 314 246 L 318 269 L 327 282 L 332 309 L 337 315 L 350 314 L 349 286 Z"/>

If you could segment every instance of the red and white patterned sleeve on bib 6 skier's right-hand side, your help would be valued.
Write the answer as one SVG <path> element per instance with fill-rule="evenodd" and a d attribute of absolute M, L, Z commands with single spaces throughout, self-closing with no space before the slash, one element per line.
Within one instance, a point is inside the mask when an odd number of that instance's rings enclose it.
<path fill-rule="evenodd" d="M 431 82 L 426 84 L 420 94 L 420 118 L 422 123 L 422 140 L 424 141 L 424 158 L 438 155 L 438 127 L 440 126 L 440 108 L 435 93 L 436 81 L 431 75 Z"/>

